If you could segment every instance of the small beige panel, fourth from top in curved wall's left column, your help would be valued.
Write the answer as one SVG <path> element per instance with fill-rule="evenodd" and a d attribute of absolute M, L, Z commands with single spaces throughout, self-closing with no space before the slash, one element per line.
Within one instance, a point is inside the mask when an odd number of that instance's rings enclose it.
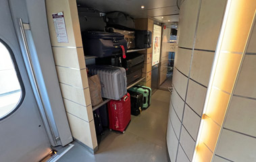
<path fill-rule="evenodd" d="M 179 97 L 175 89 L 172 90 L 172 93 L 171 93 L 171 102 L 172 102 L 172 105 L 174 106 L 174 109 L 179 119 L 181 120 L 183 109 L 184 109 L 184 101 Z"/>

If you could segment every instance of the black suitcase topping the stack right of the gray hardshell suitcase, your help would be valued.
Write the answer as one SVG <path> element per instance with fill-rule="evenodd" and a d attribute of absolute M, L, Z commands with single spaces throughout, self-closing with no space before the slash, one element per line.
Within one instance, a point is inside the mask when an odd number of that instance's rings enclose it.
<path fill-rule="evenodd" d="M 124 68 L 131 68 L 134 65 L 138 65 L 138 63 L 144 62 L 144 55 L 139 53 L 129 53 L 126 56 L 126 59 L 123 61 Z"/>

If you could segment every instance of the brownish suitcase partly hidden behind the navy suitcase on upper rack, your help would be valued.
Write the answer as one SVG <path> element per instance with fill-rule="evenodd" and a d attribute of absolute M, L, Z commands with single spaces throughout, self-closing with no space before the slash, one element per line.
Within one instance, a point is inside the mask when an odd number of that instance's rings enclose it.
<path fill-rule="evenodd" d="M 135 32 L 128 30 L 118 30 L 112 27 L 105 28 L 107 32 L 118 32 L 124 35 L 124 39 L 127 42 L 127 49 L 135 49 Z"/>

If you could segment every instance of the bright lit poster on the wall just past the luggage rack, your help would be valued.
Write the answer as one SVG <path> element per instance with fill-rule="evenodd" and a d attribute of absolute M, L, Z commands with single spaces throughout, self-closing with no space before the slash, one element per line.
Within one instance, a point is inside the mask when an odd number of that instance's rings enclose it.
<path fill-rule="evenodd" d="M 159 63 L 161 49 L 161 26 L 154 25 L 152 66 Z"/>

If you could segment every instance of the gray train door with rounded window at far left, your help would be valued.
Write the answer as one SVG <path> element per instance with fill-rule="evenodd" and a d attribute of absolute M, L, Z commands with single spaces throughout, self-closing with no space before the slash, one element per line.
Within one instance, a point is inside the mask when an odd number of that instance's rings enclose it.
<path fill-rule="evenodd" d="M 51 151 L 9 2 L 0 1 L 0 161 L 39 161 Z"/>

